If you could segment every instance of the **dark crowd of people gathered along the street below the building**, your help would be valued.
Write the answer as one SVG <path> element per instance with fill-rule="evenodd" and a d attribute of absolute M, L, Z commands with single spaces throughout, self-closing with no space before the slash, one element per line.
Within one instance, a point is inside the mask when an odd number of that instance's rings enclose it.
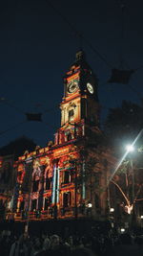
<path fill-rule="evenodd" d="M 10 230 L 0 233 L 2 256 L 142 256 L 143 236 L 129 233 L 59 234 L 43 232 L 16 236 Z"/>

